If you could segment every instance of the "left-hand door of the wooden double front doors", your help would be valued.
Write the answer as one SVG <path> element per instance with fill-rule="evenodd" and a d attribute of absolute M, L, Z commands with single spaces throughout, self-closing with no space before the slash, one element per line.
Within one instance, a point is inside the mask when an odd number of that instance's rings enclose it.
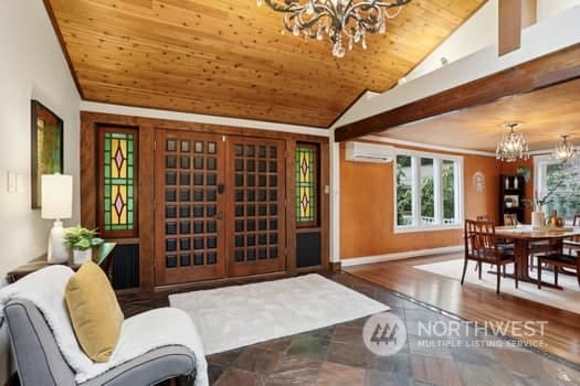
<path fill-rule="evenodd" d="M 222 136 L 156 132 L 156 285 L 225 276 Z"/>

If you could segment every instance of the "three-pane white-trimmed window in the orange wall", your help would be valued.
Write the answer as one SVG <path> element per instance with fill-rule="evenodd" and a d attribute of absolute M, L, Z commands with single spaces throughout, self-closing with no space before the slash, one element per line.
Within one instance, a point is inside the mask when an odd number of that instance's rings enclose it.
<path fill-rule="evenodd" d="M 396 232 L 463 226 L 463 158 L 397 150 Z"/>

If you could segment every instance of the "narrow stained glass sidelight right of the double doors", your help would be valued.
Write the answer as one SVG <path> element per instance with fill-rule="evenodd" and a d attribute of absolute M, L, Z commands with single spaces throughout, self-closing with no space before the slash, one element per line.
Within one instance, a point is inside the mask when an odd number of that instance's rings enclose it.
<path fill-rule="evenodd" d="M 317 148 L 297 143 L 296 161 L 296 221 L 298 226 L 316 226 L 318 218 L 317 197 Z"/>

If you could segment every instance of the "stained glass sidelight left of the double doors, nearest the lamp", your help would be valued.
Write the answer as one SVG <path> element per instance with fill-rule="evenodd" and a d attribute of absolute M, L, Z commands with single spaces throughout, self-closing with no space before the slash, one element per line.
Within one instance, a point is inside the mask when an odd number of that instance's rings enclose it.
<path fill-rule="evenodd" d="M 107 237 L 133 236 L 136 230 L 136 131 L 102 131 L 102 224 Z"/>

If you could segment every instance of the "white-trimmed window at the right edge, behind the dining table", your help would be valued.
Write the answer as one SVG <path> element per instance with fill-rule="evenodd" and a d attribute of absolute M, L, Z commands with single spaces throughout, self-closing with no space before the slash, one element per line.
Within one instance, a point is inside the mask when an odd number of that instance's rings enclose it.
<path fill-rule="evenodd" d="M 550 215 L 573 219 L 580 212 L 580 164 L 561 163 L 550 156 L 534 157 L 534 196 L 545 199 L 541 211 Z M 551 192 L 551 193 L 550 193 Z"/>

